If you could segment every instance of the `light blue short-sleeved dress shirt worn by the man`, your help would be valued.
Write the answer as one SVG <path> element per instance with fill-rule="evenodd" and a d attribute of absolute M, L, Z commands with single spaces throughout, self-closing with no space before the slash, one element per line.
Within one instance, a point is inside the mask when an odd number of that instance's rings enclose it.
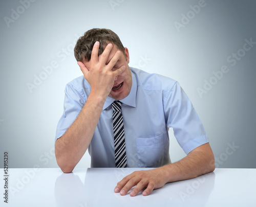
<path fill-rule="evenodd" d="M 170 163 L 169 127 L 173 127 L 174 135 L 186 154 L 208 143 L 198 114 L 177 81 L 130 68 L 131 92 L 120 100 L 127 167 L 159 167 Z M 75 121 L 90 91 L 90 84 L 84 76 L 67 84 L 64 111 L 57 125 L 55 142 Z M 115 167 L 113 101 L 106 98 L 89 145 L 91 167 Z"/>

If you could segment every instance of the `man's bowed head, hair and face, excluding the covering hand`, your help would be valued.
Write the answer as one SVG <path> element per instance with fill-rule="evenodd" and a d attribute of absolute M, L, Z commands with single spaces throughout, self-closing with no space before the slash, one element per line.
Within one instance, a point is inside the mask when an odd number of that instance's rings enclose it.
<path fill-rule="evenodd" d="M 128 65 L 130 61 L 129 51 L 127 48 L 123 47 L 123 44 L 116 33 L 108 29 L 91 29 L 87 31 L 78 39 L 76 43 L 74 49 L 75 58 L 77 61 L 82 62 L 90 71 L 93 68 L 91 55 L 96 41 L 99 41 L 100 44 L 98 51 L 99 58 L 106 46 L 109 43 L 113 44 L 113 49 L 106 60 L 106 65 L 109 64 L 110 60 L 114 57 L 117 51 L 121 52 L 119 59 L 112 68 L 112 71 L 117 70 L 122 65 L 125 66 L 125 70 L 115 78 L 109 97 L 116 100 L 124 99 L 130 94 L 132 88 L 132 72 Z"/>

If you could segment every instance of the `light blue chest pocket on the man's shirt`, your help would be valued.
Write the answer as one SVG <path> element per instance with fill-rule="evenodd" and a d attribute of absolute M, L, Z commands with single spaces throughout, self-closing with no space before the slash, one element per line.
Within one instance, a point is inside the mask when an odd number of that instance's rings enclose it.
<path fill-rule="evenodd" d="M 163 163 L 164 158 L 164 136 L 136 139 L 137 158 L 139 168 L 155 168 Z"/>

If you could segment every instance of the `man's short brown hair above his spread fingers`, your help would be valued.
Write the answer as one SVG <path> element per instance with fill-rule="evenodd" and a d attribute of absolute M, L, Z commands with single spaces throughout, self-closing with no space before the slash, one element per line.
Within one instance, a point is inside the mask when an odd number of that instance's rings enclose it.
<path fill-rule="evenodd" d="M 124 54 L 123 44 L 116 33 L 109 29 L 94 28 L 85 32 L 83 36 L 79 37 L 77 40 L 74 48 L 76 60 L 90 61 L 93 45 L 96 41 L 99 41 L 100 43 L 98 56 L 103 53 L 106 45 L 109 43 L 115 44 Z"/>

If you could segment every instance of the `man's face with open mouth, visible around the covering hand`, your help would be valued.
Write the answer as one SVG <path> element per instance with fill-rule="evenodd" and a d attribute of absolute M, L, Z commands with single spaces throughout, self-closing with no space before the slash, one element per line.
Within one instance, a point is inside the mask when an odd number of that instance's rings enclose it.
<path fill-rule="evenodd" d="M 113 58 L 115 53 L 119 50 L 115 44 L 113 44 L 113 45 L 114 45 L 114 47 L 110 52 L 110 55 L 108 57 L 108 60 L 106 61 L 106 64 L 108 64 L 110 62 L 110 60 Z M 117 78 L 114 82 L 114 86 L 109 94 L 109 97 L 116 99 L 116 100 L 121 100 L 121 99 L 124 99 L 125 97 L 127 97 L 130 94 L 130 91 L 132 88 L 132 72 L 128 65 L 128 63 L 130 62 L 130 59 L 129 59 L 130 57 L 129 57 L 129 51 L 127 48 L 124 48 L 124 53 L 125 53 L 125 55 L 121 52 L 117 63 L 112 68 L 112 70 L 115 71 L 118 68 L 120 68 L 122 65 L 125 65 L 125 70 L 119 76 L 117 76 Z M 126 59 L 125 59 L 125 57 L 126 57 Z M 91 60 L 88 62 L 84 62 L 84 65 L 86 65 L 88 70 L 90 70 Z"/>

